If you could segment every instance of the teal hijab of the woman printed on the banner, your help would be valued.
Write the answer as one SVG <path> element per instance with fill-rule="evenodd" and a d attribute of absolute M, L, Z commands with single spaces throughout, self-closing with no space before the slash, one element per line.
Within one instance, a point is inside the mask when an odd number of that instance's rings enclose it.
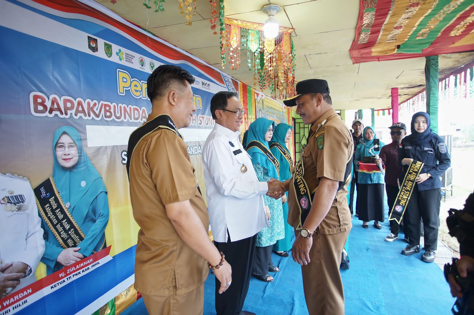
<path fill-rule="evenodd" d="M 78 160 L 73 167 L 63 167 L 56 156 L 56 143 L 63 134 L 68 134 L 77 145 Z M 94 199 L 101 192 L 107 193 L 104 182 L 82 149 L 79 132 L 71 126 L 59 127 L 53 137 L 53 178 L 64 204 L 70 203 L 69 212 L 81 226 Z"/>

